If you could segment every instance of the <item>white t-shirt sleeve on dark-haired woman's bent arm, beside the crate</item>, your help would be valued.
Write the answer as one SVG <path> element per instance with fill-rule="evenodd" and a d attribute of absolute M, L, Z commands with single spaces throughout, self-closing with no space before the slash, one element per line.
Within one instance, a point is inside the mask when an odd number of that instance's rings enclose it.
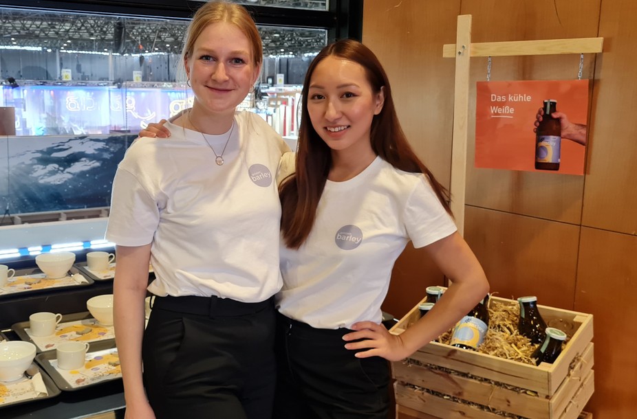
<path fill-rule="evenodd" d="M 404 208 L 404 223 L 413 247 L 425 247 L 451 236 L 457 227 L 444 210 L 424 175 L 415 185 Z"/>

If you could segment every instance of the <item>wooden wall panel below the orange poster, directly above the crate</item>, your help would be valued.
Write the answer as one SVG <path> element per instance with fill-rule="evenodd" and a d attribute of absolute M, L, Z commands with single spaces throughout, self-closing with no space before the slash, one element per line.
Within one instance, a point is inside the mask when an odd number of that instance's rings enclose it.
<path fill-rule="evenodd" d="M 572 310 L 579 226 L 466 207 L 465 238 L 492 293 L 537 295 L 539 304 Z"/>

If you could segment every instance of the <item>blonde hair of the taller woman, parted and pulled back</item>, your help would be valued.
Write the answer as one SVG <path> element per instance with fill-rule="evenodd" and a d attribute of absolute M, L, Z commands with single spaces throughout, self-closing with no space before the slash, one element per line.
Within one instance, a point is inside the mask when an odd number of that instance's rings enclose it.
<path fill-rule="evenodd" d="M 184 49 L 182 49 L 182 63 L 193 55 L 195 41 L 204 32 L 204 29 L 208 25 L 219 22 L 232 23 L 246 35 L 250 45 L 252 45 L 252 64 L 259 67 L 263 62 L 263 44 L 257 25 L 246 8 L 227 1 L 208 1 L 197 10 L 186 32 L 186 41 Z"/>

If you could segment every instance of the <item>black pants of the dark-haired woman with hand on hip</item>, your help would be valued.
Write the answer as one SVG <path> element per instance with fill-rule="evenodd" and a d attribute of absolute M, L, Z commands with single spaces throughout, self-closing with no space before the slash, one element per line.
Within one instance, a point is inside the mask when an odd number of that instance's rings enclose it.
<path fill-rule="evenodd" d="M 352 330 L 316 329 L 277 315 L 274 419 L 386 419 L 389 363 L 345 349 Z"/>

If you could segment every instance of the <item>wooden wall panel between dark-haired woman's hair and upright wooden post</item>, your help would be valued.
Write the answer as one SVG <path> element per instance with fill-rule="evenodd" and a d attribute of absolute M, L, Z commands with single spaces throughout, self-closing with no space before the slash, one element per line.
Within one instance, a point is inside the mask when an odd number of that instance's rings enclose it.
<path fill-rule="evenodd" d="M 460 0 L 365 0 L 363 43 L 387 71 L 402 128 L 416 154 L 449 187 L 453 60 Z"/>

